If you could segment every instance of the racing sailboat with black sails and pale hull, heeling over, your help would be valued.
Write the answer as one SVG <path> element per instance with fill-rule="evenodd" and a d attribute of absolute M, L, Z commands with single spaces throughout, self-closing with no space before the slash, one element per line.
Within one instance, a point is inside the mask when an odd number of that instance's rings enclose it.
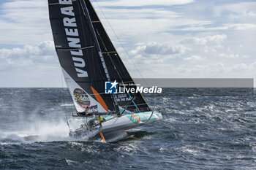
<path fill-rule="evenodd" d="M 141 93 L 114 90 L 118 83 L 136 85 L 89 0 L 48 0 L 48 6 L 56 53 L 77 110 L 75 116 L 91 117 L 69 136 L 99 136 L 108 142 L 110 136 L 162 119 Z"/>

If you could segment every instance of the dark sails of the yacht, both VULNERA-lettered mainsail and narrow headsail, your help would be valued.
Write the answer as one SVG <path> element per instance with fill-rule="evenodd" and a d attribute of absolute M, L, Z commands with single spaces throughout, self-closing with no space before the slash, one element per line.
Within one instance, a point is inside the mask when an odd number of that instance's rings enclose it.
<path fill-rule="evenodd" d="M 78 112 L 140 112 L 143 96 L 105 94 L 105 82 L 133 82 L 89 0 L 48 0 L 56 52 Z"/>

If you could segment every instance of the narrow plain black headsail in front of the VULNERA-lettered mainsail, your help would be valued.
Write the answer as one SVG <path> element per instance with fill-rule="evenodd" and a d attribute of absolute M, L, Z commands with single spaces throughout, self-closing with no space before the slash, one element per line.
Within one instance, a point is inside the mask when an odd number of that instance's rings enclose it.
<path fill-rule="evenodd" d="M 89 10 L 89 15 L 91 16 L 91 21 L 94 25 L 94 30 L 97 33 L 97 39 L 99 39 L 99 45 L 102 50 L 102 55 L 105 58 L 105 62 L 108 63 L 108 72 L 110 74 L 111 80 L 117 80 L 117 82 L 122 82 L 124 84 L 135 84 L 132 77 L 129 75 L 124 63 L 121 61 L 116 48 L 113 46 L 105 28 L 102 26 L 94 7 L 91 5 L 89 0 L 84 0 L 86 2 L 86 7 Z M 132 86 L 130 86 L 132 87 Z M 135 87 L 135 86 L 134 86 Z M 132 112 L 140 112 L 143 110 L 150 110 L 148 104 L 146 104 L 145 99 L 140 93 L 125 93 L 116 95 L 118 105 L 121 107 L 127 107 L 127 110 Z M 129 102 L 133 98 L 133 102 Z"/>

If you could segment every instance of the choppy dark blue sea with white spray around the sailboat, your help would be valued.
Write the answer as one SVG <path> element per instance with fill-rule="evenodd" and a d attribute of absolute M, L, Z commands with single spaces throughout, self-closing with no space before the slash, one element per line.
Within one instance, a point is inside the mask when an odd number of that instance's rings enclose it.
<path fill-rule="evenodd" d="M 146 101 L 163 119 L 134 138 L 70 141 L 67 89 L 0 88 L 0 169 L 256 169 L 252 89 L 168 88 Z"/>

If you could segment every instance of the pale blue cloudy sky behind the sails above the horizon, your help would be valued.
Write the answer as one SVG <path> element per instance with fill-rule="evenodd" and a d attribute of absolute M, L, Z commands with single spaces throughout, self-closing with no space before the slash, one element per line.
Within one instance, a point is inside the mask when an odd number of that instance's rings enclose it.
<path fill-rule="evenodd" d="M 256 78 L 255 0 L 91 1 L 132 77 Z M 0 87 L 61 77 L 47 0 L 1 0 Z"/>

